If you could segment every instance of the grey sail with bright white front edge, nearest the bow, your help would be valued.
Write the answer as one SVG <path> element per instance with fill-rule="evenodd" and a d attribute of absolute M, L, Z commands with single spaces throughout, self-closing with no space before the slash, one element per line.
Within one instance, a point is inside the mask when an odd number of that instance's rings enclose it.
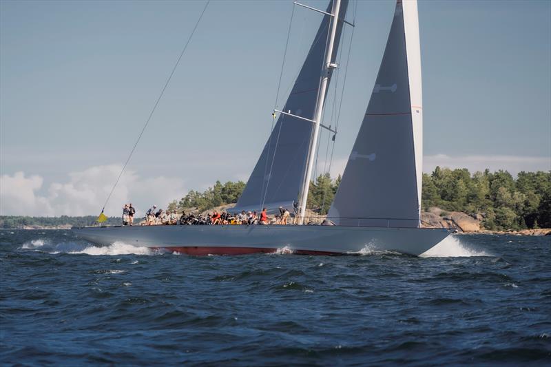
<path fill-rule="evenodd" d="M 329 209 L 335 224 L 419 227 L 422 92 L 416 0 L 397 0 L 360 132 Z"/>

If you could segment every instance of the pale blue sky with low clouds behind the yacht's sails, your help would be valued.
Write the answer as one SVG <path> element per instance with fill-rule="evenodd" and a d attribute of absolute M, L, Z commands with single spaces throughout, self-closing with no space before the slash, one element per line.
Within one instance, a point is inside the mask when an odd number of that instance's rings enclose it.
<path fill-rule="evenodd" d="M 203 6 L 0 1 L 1 214 L 101 209 Z M 113 215 L 125 200 L 164 206 L 217 179 L 247 180 L 269 134 L 292 7 L 211 1 Z M 390 0 L 358 3 L 333 173 L 360 127 L 393 10 Z M 319 21 L 295 8 L 280 106 Z M 551 169 L 551 2 L 419 1 L 419 26 L 425 171 Z"/>

